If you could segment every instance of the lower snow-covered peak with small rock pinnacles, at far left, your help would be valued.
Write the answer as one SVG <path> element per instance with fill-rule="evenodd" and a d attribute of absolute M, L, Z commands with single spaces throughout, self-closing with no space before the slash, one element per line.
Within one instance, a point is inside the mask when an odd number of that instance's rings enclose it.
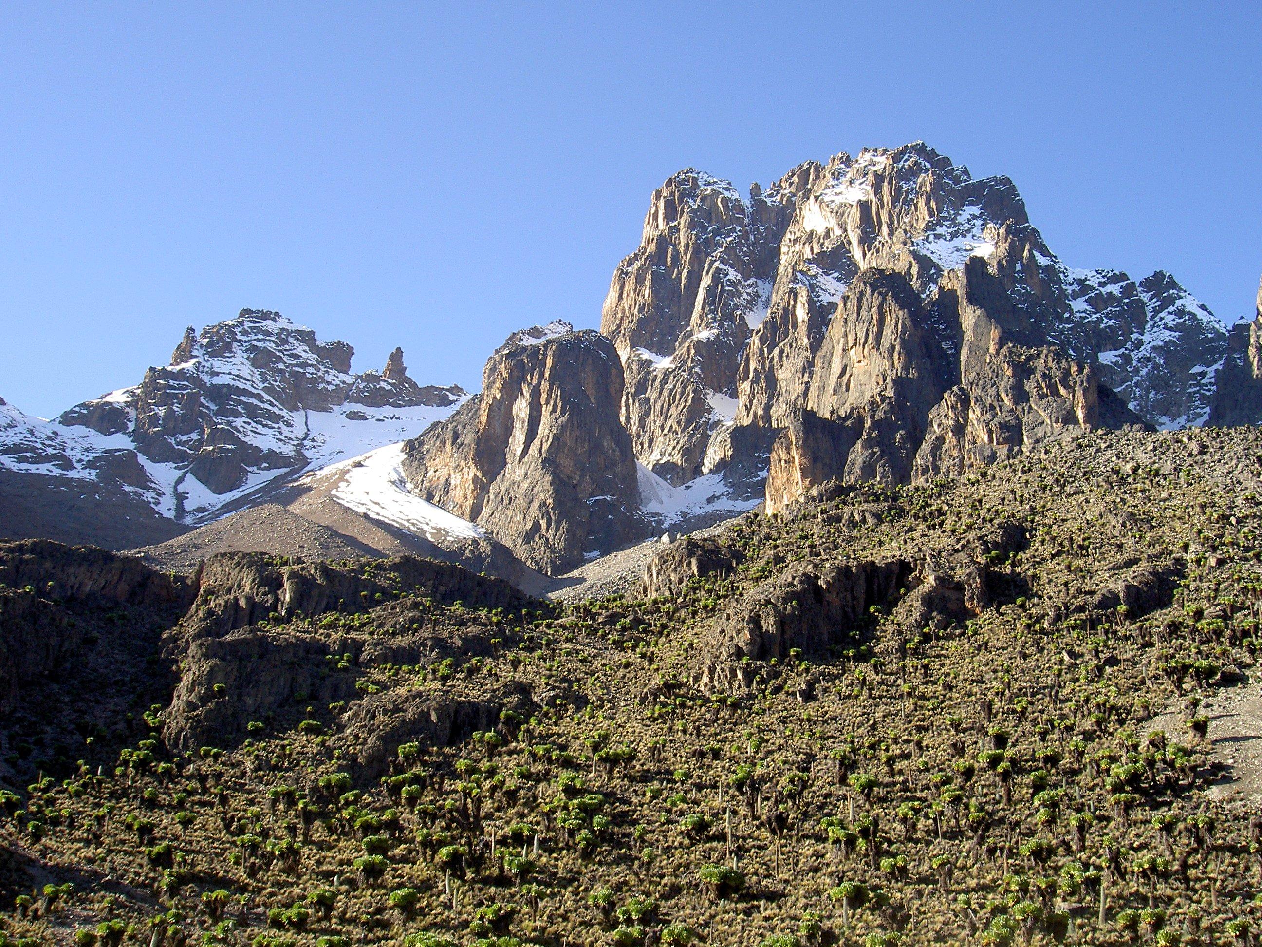
<path fill-rule="evenodd" d="M 159 513 L 201 521 L 316 462 L 413 437 L 464 399 L 418 385 L 403 351 L 355 375 L 355 350 L 269 309 L 188 328 L 139 385 L 38 422 L 6 405 L 0 463 L 117 480 Z"/>

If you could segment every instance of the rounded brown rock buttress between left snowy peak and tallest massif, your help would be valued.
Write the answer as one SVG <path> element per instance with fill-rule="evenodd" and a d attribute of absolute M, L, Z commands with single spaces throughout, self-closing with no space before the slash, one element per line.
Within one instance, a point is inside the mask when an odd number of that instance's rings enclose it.
<path fill-rule="evenodd" d="M 541 572 L 612 551 L 639 530 L 623 384 L 596 332 L 554 322 L 514 333 L 487 361 L 482 393 L 405 446 L 413 491 Z"/>

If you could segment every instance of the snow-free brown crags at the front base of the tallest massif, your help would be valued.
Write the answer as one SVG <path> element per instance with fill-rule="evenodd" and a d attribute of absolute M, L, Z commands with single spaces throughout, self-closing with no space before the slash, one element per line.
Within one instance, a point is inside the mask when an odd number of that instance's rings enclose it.
<path fill-rule="evenodd" d="M 1143 424 L 1099 375 L 1040 338 L 1002 260 L 969 258 L 930 304 L 906 278 L 866 270 L 847 289 L 811 366 L 810 410 L 771 452 L 767 509 L 829 480 L 907 482 L 994 463 L 1097 427 Z M 957 328 L 944 346 L 939 326 Z M 958 346 L 958 361 L 955 348 Z"/>

